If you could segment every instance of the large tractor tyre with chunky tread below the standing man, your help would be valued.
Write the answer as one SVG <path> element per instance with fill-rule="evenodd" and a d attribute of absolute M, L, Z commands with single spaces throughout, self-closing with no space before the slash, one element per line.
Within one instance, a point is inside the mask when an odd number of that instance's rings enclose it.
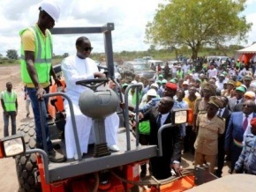
<path fill-rule="evenodd" d="M 36 145 L 34 121 L 25 122 L 17 131 L 24 137 L 26 149 L 34 149 Z M 41 191 L 39 170 L 36 161 L 36 154 L 19 155 L 15 157 L 16 171 L 19 181 L 19 192 Z"/>

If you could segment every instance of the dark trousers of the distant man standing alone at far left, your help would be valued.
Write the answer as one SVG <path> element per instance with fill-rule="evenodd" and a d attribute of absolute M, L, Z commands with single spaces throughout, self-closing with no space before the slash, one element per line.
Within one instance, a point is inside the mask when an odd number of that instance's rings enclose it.
<path fill-rule="evenodd" d="M 9 136 L 9 117 L 11 117 L 11 135 L 16 134 L 16 112 L 15 111 L 9 111 L 5 112 L 4 114 L 4 137 Z"/>

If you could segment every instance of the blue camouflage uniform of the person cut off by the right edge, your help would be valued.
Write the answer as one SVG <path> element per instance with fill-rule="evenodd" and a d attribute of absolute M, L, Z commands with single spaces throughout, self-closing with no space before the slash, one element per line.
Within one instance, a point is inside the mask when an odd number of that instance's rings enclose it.
<path fill-rule="evenodd" d="M 246 174 L 256 175 L 256 136 L 252 134 L 245 137 L 243 151 L 237 160 L 235 170 L 239 172 L 243 167 Z"/>

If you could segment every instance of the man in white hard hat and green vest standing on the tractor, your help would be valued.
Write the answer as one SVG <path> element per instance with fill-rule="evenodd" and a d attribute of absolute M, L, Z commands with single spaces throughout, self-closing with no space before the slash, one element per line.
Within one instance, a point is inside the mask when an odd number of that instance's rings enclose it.
<path fill-rule="evenodd" d="M 43 137 L 41 131 L 41 118 L 39 100 L 44 100 L 46 105 L 42 105 L 43 116 L 47 115 L 48 99 L 43 99 L 42 95 L 49 92 L 50 76 L 56 84 L 60 84 L 52 68 L 52 37 L 49 29 L 55 26 L 59 18 L 60 9 L 53 2 L 43 1 L 39 7 L 39 18 L 34 26 L 20 31 L 21 38 L 21 79 L 26 85 L 26 90 L 32 103 L 35 131 L 36 147 L 43 148 Z M 45 121 L 44 127 L 49 160 L 52 162 L 63 162 L 65 157 L 53 148 L 49 137 L 49 126 Z"/>

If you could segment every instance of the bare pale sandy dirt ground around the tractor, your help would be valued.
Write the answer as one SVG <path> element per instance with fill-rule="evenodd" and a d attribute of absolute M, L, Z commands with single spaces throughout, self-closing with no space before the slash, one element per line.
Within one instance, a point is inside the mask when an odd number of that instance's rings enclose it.
<path fill-rule="evenodd" d="M 0 92 L 5 90 L 5 84 L 7 82 L 11 82 L 13 85 L 13 90 L 18 93 L 18 116 L 17 116 L 17 128 L 26 122 L 30 121 L 33 118 L 33 113 L 31 109 L 31 114 L 29 118 L 26 118 L 26 108 L 25 108 L 25 100 L 23 94 L 23 85 L 20 80 L 20 72 L 19 65 L 11 65 L 11 66 L 1 66 L 0 65 Z M 0 109 L 1 114 L 3 115 L 3 109 Z M 0 138 L 4 137 L 4 122 L 3 116 L 0 117 Z M 11 124 L 9 126 L 9 130 L 11 130 Z M 11 132 L 10 132 L 11 134 Z M 184 154 L 182 160 L 182 166 L 184 168 L 192 168 L 192 160 L 193 157 L 191 154 Z M 223 174 L 228 174 L 228 166 L 224 166 Z M 16 174 L 16 166 L 14 159 L 0 159 L 0 191 L 4 192 L 14 192 L 18 191 L 19 183 L 17 180 Z"/>

